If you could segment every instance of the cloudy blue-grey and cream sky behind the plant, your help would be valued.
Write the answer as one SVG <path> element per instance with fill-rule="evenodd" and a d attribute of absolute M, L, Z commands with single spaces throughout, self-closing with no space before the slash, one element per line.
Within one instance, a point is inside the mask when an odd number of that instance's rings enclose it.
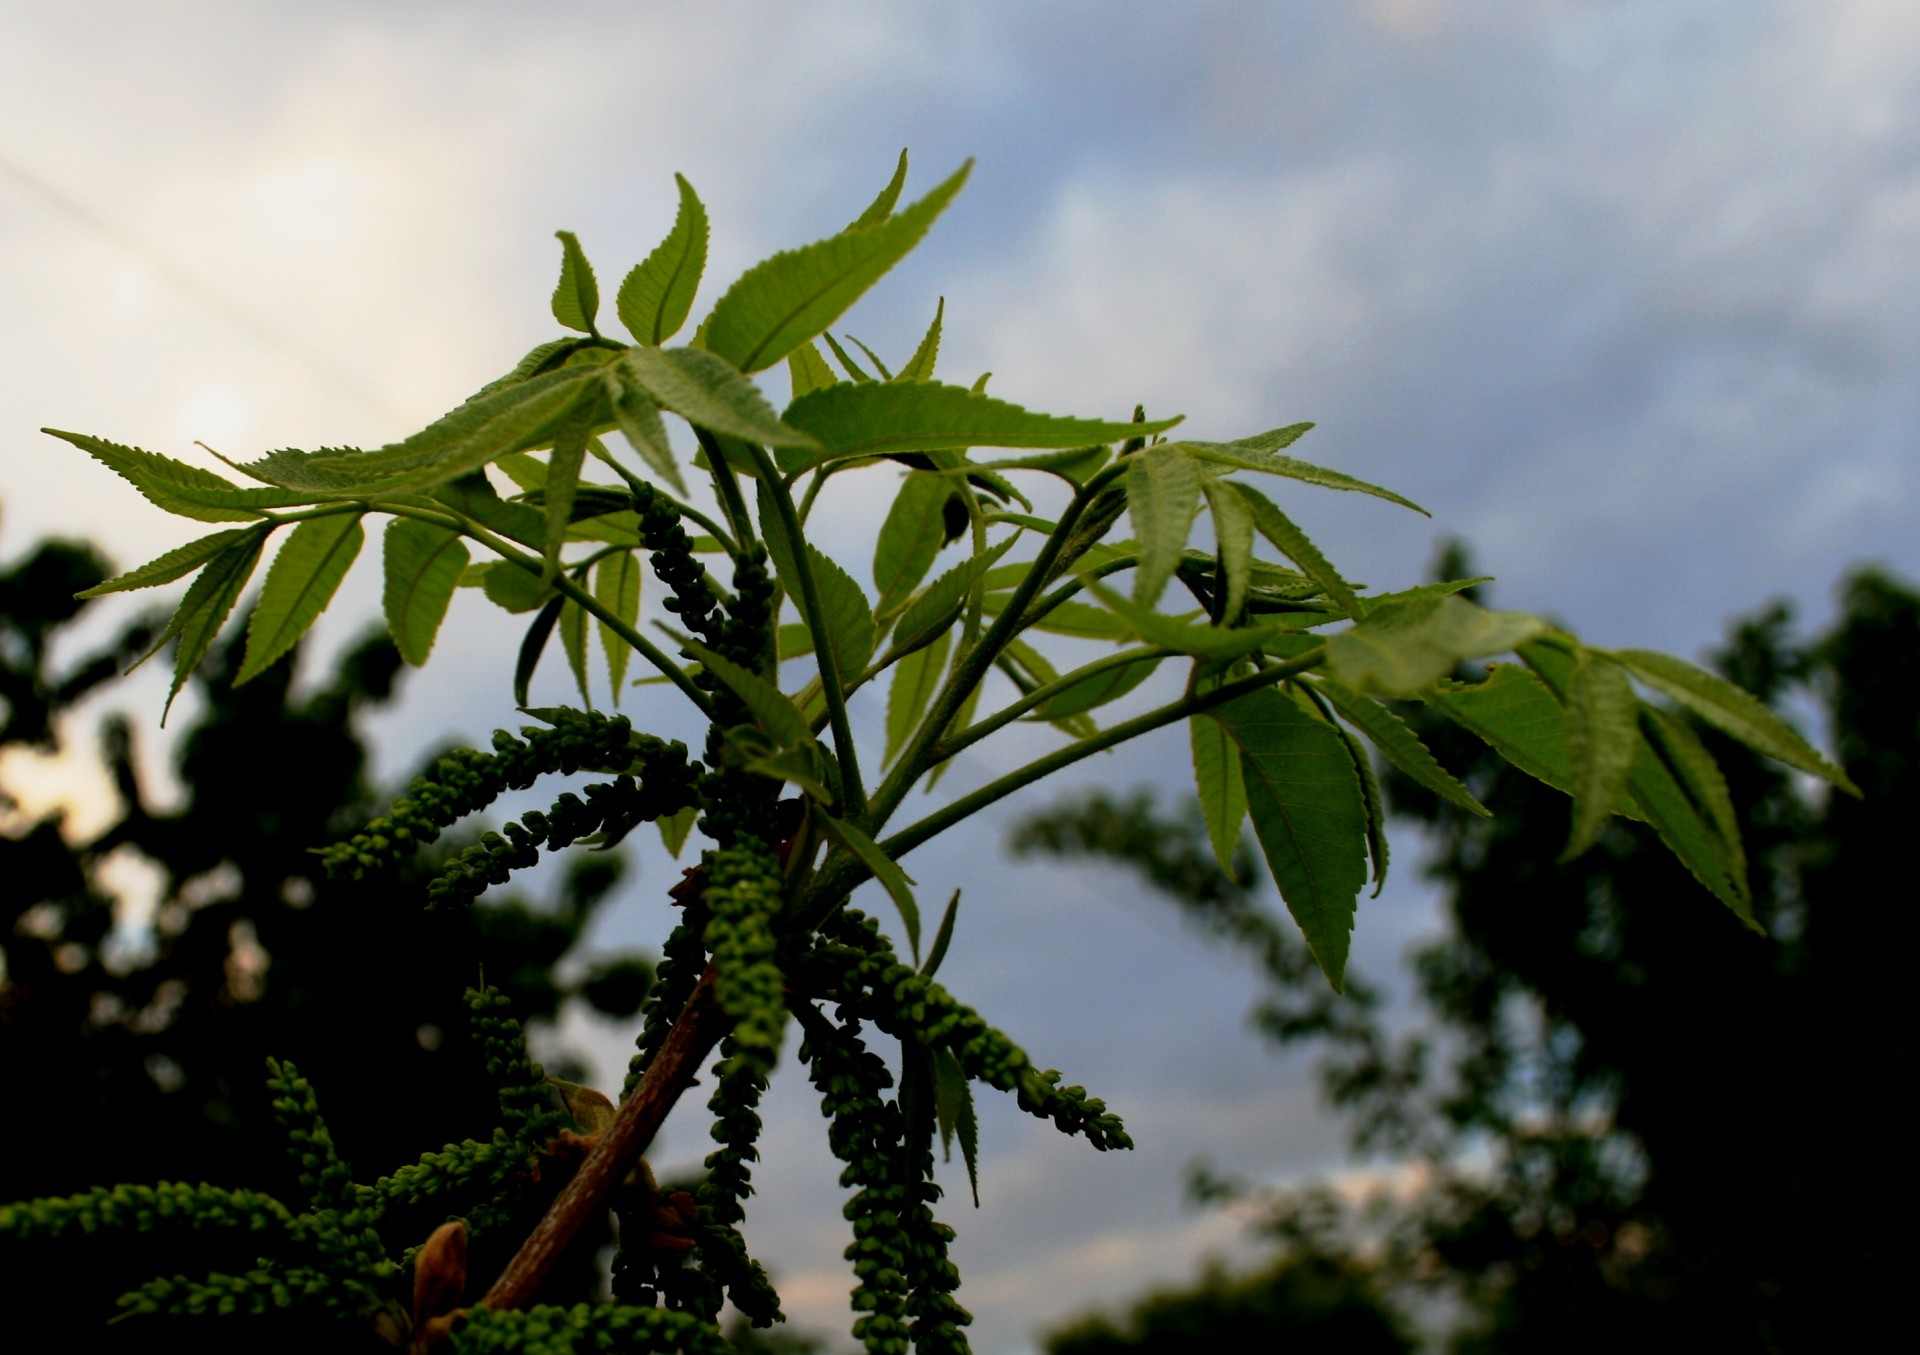
<path fill-rule="evenodd" d="M 1851 562 L 1920 570 L 1916 127 L 1905 0 L 0 0 L 0 551 L 184 539 L 42 424 L 180 457 L 380 443 L 549 334 L 557 226 L 611 284 L 682 171 L 710 299 L 910 146 L 910 190 L 977 167 L 849 319 L 881 353 L 945 296 L 945 370 L 1010 399 L 1140 401 L 1202 438 L 1317 420 L 1304 455 L 1434 511 L 1302 497 L 1352 574 L 1413 582 L 1461 534 L 1501 603 L 1692 654 L 1776 595 L 1816 620 Z M 868 511 L 826 518 L 847 559 Z M 372 574 L 323 641 L 372 616 Z M 382 766 L 503 720 L 511 643 L 449 631 Z M 142 676 L 113 701 L 152 731 L 157 699 Z M 83 816 L 98 795 L 12 772 Z M 1177 785 L 1179 741 L 1096 775 Z M 952 1213 L 995 1353 L 1227 1246 L 1231 1219 L 1181 1207 L 1188 1159 L 1346 1169 L 1308 1069 L 1240 1029 L 1231 962 L 1116 881 L 983 869 L 1004 827 L 912 862 L 927 894 L 970 885 L 952 983 L 1142 1148 L 989 1115 L 983 1209 Z M 1377 975 L 1432 927 L 1411 875 L 1361 912 Z M 609 940 L 657 935 L 666 877 L 645 862 Z M 799 1088 L 774 1102 L 756 1244 L 835 1328 L 822 1125 Z"/>

